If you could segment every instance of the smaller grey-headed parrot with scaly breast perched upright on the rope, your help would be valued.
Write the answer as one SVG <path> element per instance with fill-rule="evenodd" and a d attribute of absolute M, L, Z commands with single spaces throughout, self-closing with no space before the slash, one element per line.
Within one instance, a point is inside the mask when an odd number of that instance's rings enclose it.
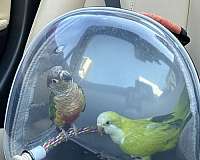
<path fill-rule="evenodd" d="M 62 66 L 54 66 L 48 71 L 47 87 L 50 90 L 50 119 L 58 128 L 73 125 L 80 112 L 85 110 L 85 96 L 81 87 Z"/>

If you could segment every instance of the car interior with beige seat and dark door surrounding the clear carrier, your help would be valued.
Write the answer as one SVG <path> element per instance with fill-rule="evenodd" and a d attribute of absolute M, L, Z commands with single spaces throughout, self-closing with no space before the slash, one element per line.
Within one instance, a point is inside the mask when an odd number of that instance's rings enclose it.
<path fill-rule="evenodd" d="M 200 74 L 199 0 L 0 0 L 0 128 L 17 67 L 24 50 L 52 20 L 83 7 L 120 7 L 135 12 L 150 12 L 182 26 L 191 42 L 186 49 Z M 0 160 L 3 155 L 3 129 L 0 129 Z"/>

